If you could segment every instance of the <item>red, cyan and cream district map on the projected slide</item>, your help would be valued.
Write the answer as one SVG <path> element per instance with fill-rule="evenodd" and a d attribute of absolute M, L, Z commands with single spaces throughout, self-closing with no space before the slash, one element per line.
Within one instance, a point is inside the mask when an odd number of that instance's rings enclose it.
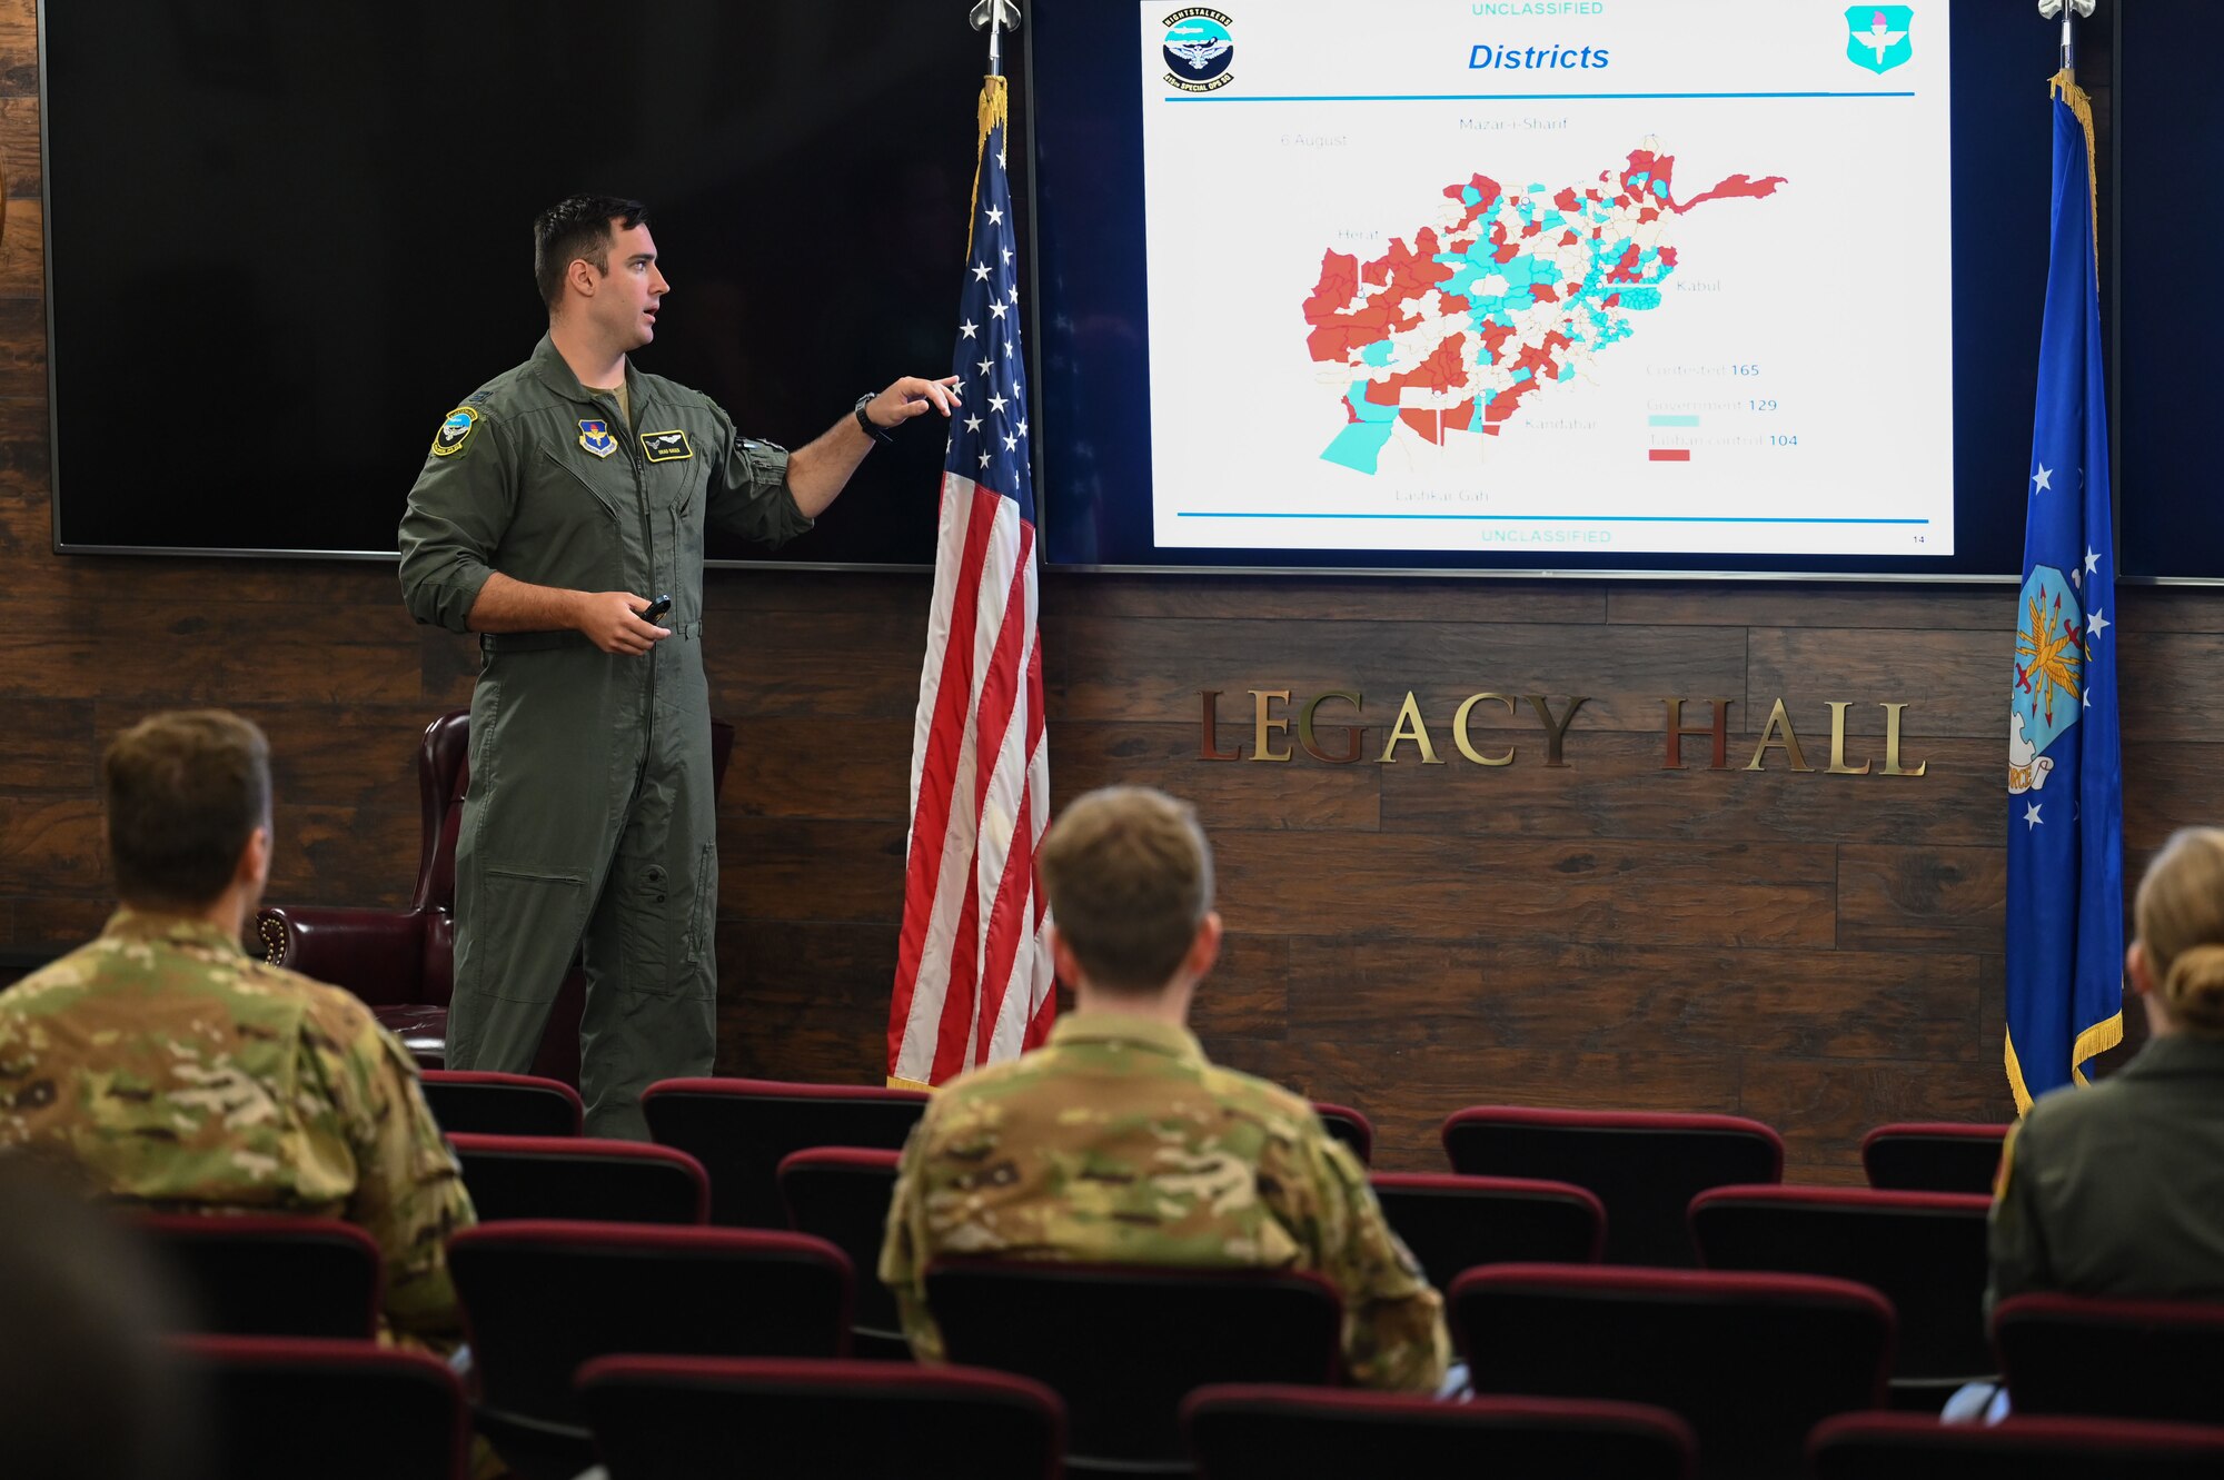
<path fill-rule="evenodd" d="M 1690 200 L 1672 191 L 1675 156 L 1646 138 L 1597 184 L 1526 196 L 1475 176 L 1446 187 L 1439 222 L 1361 267 L 1321 253 L 1305 300 L 1305 349 L 1352 373 L 1348 424 L 1321 451 L 1374 473 L 1403 424 L 1443 447 L 1446 431 L 1499 436 L 1523 398 L 1575 380 L 1597 351 L 1630 338 L 1677 269 L 1675 218 L 1708 200 L 1773 196 L 1781 176 L 1730 176 Z"/>

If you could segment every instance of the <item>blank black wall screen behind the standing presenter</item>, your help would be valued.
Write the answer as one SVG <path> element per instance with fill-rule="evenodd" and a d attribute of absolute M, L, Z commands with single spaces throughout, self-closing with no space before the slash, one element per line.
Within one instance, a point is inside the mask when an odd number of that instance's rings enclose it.
<path fill-rule="evenodd" d="M 963 7 L 71 0 L 40 38 L 62 549 L 391 553 L 440 418 L 545 329 L 572 191 L 649 202 L 638 364 L 749 436 L 950 362 Z M 930 562 L 941 456 L 876 449 L 774 558 Z"/>

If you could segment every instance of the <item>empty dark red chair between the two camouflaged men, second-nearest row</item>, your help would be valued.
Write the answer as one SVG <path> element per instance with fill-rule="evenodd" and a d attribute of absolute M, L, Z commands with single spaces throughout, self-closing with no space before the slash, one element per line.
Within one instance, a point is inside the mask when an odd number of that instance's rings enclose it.
<path fill-rule="evenodd" d="M 598 1356 L 847 1356 L 850 1260 L 803 1233 L 489 1222 L 449 1240 L 478 1429 L 527 1480 L 594 1464 L 572 1380 Z"/>

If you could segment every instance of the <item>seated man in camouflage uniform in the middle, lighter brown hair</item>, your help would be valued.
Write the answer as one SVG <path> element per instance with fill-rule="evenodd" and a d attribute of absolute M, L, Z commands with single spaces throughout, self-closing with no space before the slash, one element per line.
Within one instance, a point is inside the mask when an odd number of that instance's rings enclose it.
<path fill-rule="evenodd" d="M 1305 1100 L 1214 1067 L 1185 1027 L 1221 944 L 1190 807 L 1092 791 L 1039 864 L 1074 1011 L 1034 1053 L 943 1087 L 903 1149 L 881 1280 L 912 1351 L 941 1360 L 923 1271 L 945 1253 L 1310 1269 L 1343 1296 L 1354 1382 L 1434 1389 L 1443 1304 L 1366 1171 Z"/>

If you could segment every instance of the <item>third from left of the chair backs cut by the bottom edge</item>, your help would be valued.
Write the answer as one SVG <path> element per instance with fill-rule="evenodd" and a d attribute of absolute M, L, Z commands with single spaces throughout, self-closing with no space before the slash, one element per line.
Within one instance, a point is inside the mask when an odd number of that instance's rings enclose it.
<path fill-rule="evenodd" d="M 1637 1402 L 1201 1387 L 1181 1404 L 1201 1480 L 1612 1476 L 1688 1480 L 1690 1424 Z"/>

